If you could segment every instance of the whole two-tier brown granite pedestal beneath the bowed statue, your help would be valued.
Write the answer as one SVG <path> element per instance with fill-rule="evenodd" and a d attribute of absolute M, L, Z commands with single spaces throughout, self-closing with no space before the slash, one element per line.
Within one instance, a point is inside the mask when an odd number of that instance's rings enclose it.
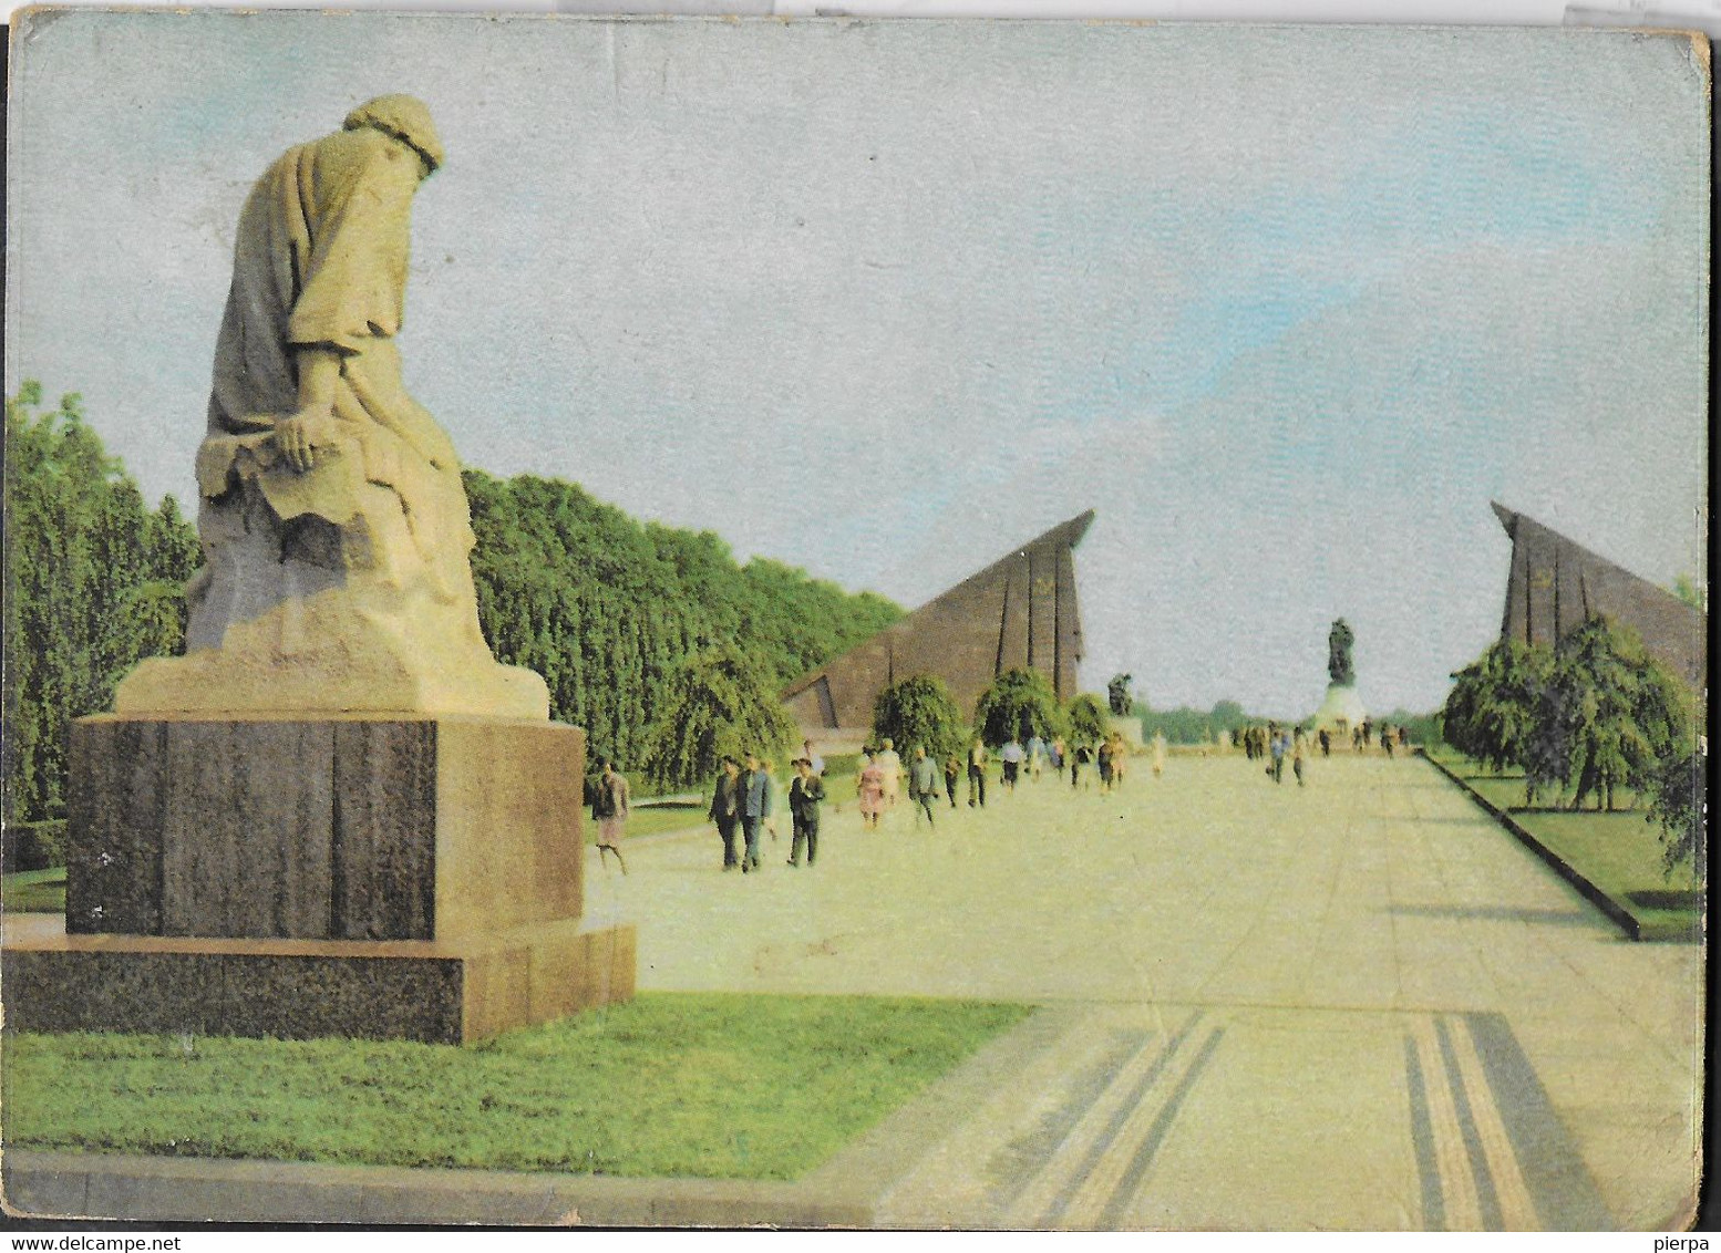
<path fill-rule="evenodd" d="M 583 764 L 542 721 L 79 719 L 65 928 L 7 936 L 9 1026 L 461 1043 L 626 1000 Z"/>

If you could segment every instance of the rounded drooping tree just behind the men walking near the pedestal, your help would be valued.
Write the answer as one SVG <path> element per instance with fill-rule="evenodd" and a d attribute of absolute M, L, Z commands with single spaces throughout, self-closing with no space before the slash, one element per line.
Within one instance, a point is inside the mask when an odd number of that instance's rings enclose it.
<path fill-rule="evenodd" d="M 716 775 L 725 756 L 757 752 L 781 762 L 793 742 L 795 723 L 764 670 L 733 647 L 718 647 L 669 673 L 640 768 L 663 787 L 685 787 Z"/>

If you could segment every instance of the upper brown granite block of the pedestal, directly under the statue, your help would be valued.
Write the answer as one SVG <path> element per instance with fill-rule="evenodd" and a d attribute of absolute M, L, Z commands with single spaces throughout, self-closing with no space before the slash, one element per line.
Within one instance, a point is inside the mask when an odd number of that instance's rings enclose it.
<path fill-rule="evenodd" d="M 65 929 L 453 940 L 578 917 L 583 764 L 559 723 L 84 718 Z"/>

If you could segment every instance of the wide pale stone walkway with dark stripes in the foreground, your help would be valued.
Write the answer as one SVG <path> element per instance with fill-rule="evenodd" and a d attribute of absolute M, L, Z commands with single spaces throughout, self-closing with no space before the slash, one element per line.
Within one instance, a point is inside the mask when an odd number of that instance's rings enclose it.
<path fill-rule="evenodd" d="M 1693 1207 L 1700 948 L 1619 938 L 1427 762 L 1315 761 L 1296 788 L 1174 757 L 1115 795 L 988 799 L 869 833 L 838 797 L 811 871 L 783 864 L 786 816 L 759 874 L 721 873 L 714 833 L 637 843 L 628 878 L 587 866 L 589 912 L 638 923 L 645 990 L 1043 1007 L 1005 1079 L 902 1143 L 876 1220 L 1662 1229 Z"/>

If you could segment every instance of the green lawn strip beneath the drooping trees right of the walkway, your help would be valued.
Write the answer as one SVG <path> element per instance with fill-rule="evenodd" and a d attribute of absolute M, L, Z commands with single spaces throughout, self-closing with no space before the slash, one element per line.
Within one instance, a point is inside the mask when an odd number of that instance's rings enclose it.
<path fill-rule="evenodd" d="M 1690 866 L 1662 873 L 1661 828 L 1645 811 L 1597 812 L 1523 804 L 1523 775 L 1489 771 L 1451 750 L 1440 761 L 1465 783 L 1616 900 L 1645 940 L 1699 938 L 1702 895 Z M 1618 795 L 1616 804 L 1635 800 Z"/>

